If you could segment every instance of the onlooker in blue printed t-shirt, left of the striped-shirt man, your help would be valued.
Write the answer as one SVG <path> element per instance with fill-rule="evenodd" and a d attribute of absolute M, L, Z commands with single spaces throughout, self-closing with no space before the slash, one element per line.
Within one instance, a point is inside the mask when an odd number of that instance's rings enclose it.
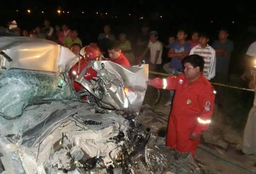
<path fill-rule="evenodd" d="M 190 52 L 189 43 L 186 41 L 187 36 L 186 31 L 180 29 L 177 33 L 177 41 L 171 44 L 171 49 L 168 51 L 167 57 L 171 58 L 168 73 L 172 76 L 177 76 L 183 71 L 182 60 L 184 57 L 188 56 Z M 170 98 L 169 101 L 165 103 L 165 106 L 171 105 L 173 95 L 174 91 L 170 91 Z"/>

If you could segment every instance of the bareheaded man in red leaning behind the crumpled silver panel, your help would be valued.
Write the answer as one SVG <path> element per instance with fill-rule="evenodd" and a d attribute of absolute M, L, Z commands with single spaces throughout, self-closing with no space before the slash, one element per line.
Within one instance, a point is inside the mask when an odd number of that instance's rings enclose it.
<path fill-rule="evenodd" d="M 122 53 L 119 41 L 111 40 L 107 45 L 109 60 L 122 66 L 130 66 L 129 61 Z"/>

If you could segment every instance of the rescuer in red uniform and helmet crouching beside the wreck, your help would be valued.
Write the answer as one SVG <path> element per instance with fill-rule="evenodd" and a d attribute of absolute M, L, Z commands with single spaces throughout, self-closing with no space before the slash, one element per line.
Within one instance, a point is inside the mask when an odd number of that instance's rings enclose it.
<path fill-rule="evenodd" d="M 100 48 L 94 44 L 83 47 L 80 51 L 80 54 L 82 55 L 81 60 L 77 62 L 69 71 L 69 76 L 72 78 L 73 86 L 76 91 L 81 90 L 82 86 L 79 83 L 75 82 L 74 79 L 79 76 L 83 68 L 85 68 L 85 66 L 91 63 L 91 61 L 102 59 Z M 85 73 L 86 80 L 91 80 L 93 77 L 96 77 L 96 76 L 97 76 L 97 72 L 91 67 L 86 70 L 86 73 Z"/>

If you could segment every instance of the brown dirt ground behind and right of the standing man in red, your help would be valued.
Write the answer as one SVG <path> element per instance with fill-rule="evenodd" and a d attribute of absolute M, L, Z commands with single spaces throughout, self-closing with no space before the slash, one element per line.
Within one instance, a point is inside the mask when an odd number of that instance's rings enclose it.
<path fill-rule="evenodd" d="M 151 77 L 152 78 L 152 77 Z M 227 92 L 230 101 L 238 103 L 241 97 L 233 99 L 233 91 Z M 251 94 L 249 94 L 251 95 Z M 162 90 L 162 97 L 157 105 L 154 102 L 157 98 L 157 90 L 148 87 L 144 105 L 151 106 L 156 112 L 168 115 L 171 106 L 164 106 L 168 100 L 168 91 Z M 246 106 L 248 103 L 244 103 Z M 232 105 L 232 107 L 230 107 Z M 212 127 L 205 131 L 201 137 L 201 143 L 196 151 L 195 159 L 202 166 L 205 174 L 253 174 L 256 173 L 255 155 L 240 156 L 235 154 L 235 150 L 241 148 L 242 132 L 246 123 L 248 110 L 252 105 L 243 107 L 226 101 L 223 108 L 215 105 L 212 117 Z M 240 107 L 240 108 L 239 108 Z M 235 109 L 234 109 L 235 108 Z M 239 109 L 238 110 L 236 110 Z M 242 108 L 242 109 L 241 109 Z M 226 111 L 225 111 L 226 109 Z M 234 111 L 229 111 L 234 110 Z M 236 113 L 235 113 L 236 112 Z M 235 116 L 234 116 L 235 113 Z M 230 115 L 233 118 L 230 118 Z M 202 140 L 205 139 L 205 140 Z"/>

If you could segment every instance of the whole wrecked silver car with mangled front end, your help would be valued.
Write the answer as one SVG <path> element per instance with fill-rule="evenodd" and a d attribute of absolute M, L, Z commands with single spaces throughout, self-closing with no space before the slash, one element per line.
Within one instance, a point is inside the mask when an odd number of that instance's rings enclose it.
<path fill-rule="evenodd" d="M 88 64 L 49 40 L 0 37 L 0 172 L 5 174 L 199 174 L 189 154 L 165 147 L 136 115 L 148 65 Z M 83 78 L 86 68 L 97 71 Z M 86 100 L 81 100 L 86 96 Z"/>

